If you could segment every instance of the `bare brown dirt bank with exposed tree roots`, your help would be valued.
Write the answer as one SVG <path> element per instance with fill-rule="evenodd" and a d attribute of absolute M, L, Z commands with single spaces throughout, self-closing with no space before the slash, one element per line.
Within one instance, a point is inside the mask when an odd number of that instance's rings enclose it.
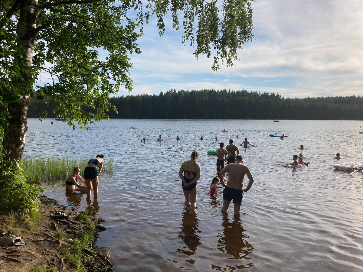
<path fill-rule="evenodd" d="M 69 271 L 70 267 L 58 250 L 67 244 L 55 236 L 60 232 L 65 238 L 80 236 L 87 230 L 88 223 L 78 221 L 79 212 L 66 210 L 66 207 L 54 203 L 54 200 L 40 197 L 40 219 L 37 228 L 30 233 L 16 233 L 25 241 L 24 246 L 0 247 L 0 272 L 24 271 L 35 266 L 54 268 L 55 271 Z M 52 218 L 50 214 L 65 211 L 67 219 Z M 7 230 L 5 216 L 0 217 L 0 229 Z M 89 254 L 92 254 L 89 252 Z M 96 256 L 97 258 L 97 256 Z"/>

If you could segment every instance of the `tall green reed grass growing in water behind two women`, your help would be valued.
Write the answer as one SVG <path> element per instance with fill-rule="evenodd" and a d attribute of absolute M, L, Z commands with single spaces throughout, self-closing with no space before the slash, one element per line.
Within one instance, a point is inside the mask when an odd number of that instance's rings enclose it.
<path fill-rule="evenodd" d="M 29 184 L 39 184 L 40 182 L 65 179 L 73 174 L 73 168 L 78 166 L 81 168 L 81 176 L 83 170 L 87 166 L 89 159 L 79 159 L 70 157 L 23 157 L 23 170 Z M 105 160 L 102 168 L 102 175 L 112 174 L 114 171 L 114 160 Z"/>

